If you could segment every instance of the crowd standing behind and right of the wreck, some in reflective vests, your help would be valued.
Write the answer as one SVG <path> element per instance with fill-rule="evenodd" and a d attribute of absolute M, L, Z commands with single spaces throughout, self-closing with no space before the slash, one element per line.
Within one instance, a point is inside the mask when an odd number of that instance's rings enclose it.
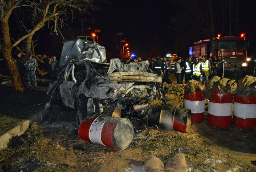
<path fill-rule="evenodd" d="M 162 77 L 164 75 L 164 81 L 169 84 L 170 75 L 170 61 L 167 57 L 161 58 L 157 56 L 156 58 L 147 59 L 150 64 L 149 68 L 152 69 L 157 75 Z M 141 62 L 142 58 L 135 56 L 134 58 L 121 59 L 121 62 L 128 64 L 131 62 L 137 63 Z M 216 58 L 206 56 L 198 56 L 192 58 L 177 58 L 174 64 L 174 73 L 177 78 L 177 84 L 183 83 L 183 78 L 185 77 L 185 83 L 189 80 L 197 80 L 201 83 L 210 79 L 213 76 L 223 77 L 223 64 L 225 60 L 221 56 Z"/>

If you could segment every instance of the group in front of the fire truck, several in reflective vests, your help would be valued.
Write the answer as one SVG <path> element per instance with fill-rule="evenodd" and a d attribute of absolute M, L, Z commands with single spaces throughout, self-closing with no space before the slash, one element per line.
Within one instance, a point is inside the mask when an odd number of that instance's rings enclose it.
<path fill-rule="evenodd" d="M 223 64 L 225 60 L 218 56 L 218 60 L 208 60 L 206 56 L 194 57 L 189 56 L 186 62 L 183 58 L 178 58 L 174 65 L 175 77 L 177 78 L 177 84 L 182 84 L 183 77 L 185 75 L 185 83 L 189 80 L 197 80 L 201 83 L 208 81 L 209 76 L 217 70 L 217 75 L 222 78 Z"/>

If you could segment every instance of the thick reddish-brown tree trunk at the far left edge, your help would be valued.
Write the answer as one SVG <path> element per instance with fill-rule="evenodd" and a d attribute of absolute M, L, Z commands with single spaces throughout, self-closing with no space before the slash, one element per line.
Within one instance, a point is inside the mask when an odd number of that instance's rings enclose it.
<path fill-rule="evenodd" d="M 11 50 L 13 49 L 10 40 L 10 30 L 7 18 L 1 18 L 2 33 L 3 33 L 3 58 L 10 70 L 10 74 L 13 80 L 13 88 L 16 91 L 24 91 L 24 86 L 22 84 L 21 77 L 19 75 L 19 70 L 16 63 L 11 55 Z"/>

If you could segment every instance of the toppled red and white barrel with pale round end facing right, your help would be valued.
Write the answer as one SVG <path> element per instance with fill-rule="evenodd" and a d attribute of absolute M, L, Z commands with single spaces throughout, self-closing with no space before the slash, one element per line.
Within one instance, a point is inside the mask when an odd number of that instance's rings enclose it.
<path fill-rule="evenodd" d="M 126 118 L 101 115 L 82 121 L 78 135 L 82 140 L 124 150 L 133 139 L 133 124 Z"/>

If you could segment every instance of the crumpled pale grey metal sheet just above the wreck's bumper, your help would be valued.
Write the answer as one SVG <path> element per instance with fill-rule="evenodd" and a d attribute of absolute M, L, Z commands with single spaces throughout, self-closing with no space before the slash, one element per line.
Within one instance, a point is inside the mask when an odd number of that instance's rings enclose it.
<path fill-rule="evenodd" d="M 118 72 L 146 72 L 149 67 L 149 61 L 124 64 L 120 59 L 111 59 L 109 65 L 109 71 L 107 74 L 112 73 L 114 70 Z"/>

